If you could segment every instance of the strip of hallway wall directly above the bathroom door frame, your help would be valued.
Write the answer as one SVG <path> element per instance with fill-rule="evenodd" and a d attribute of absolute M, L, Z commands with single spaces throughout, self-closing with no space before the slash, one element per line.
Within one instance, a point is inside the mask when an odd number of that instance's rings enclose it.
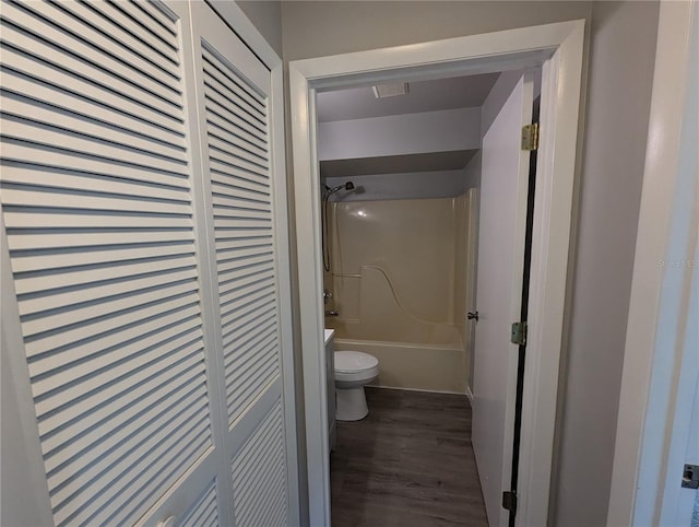
<path fill-rule="evenodd" d="M 284 60 L 589 19 L 588 1 L 283 1 Z"/>

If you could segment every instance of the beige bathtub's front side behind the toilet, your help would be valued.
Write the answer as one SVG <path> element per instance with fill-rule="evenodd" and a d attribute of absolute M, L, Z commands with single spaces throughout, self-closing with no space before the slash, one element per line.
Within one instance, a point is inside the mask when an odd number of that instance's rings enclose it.
<path fill-rule="evenodd" d="M 391 342 L 335 339 L 336 350 L 371 353 L 379 360 L 379 376 L 371 386 L 464 394 L 463 350 Z"/>

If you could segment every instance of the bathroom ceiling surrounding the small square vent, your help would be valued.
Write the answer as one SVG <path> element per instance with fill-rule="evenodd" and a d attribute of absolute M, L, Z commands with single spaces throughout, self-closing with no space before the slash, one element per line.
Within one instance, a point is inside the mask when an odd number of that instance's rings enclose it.
<path fill-rule="evenodd" d="M 318 93 L 320 122 L 481 106 L 499 73 L 410 83 L 407 95 L 376 98 L 371 86 Z"/>

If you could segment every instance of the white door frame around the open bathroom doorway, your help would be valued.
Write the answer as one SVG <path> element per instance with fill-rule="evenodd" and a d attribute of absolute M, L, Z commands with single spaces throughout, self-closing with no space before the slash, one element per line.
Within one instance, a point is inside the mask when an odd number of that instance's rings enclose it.
<path fill-rule="evenodd" d="M 330 525 L 316 91 L 542 67 L 541 142 L 523 396 L 519 525 L 546 525 L 583 74 L 584 20 L 289 62 L 306 457 L 311 525 Z M 521 291 L 513 292 L 521 294 Z"/>

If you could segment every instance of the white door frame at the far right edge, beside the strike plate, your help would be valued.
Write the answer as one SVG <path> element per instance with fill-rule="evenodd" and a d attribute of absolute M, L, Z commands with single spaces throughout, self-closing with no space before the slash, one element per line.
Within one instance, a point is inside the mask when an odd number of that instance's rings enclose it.
<path fill-rule="evenodd" d="M 685 105 L 697 16 L 696 0 L 660 3 L 608 527 L 656 525 L 666 514 L 666 480 L 675 478 L 680 490 L 682 473 L 667 473 L 673 440 L 682 435 L 675 410 L 678 400 L 691 399 L 689 385 L 699 375 L 699 361 L 692 354 L 696 349 L 690 351 L 686 342 L 683 346 L 683 338 L 689 338 L 688 332 L 682 335 L 683 326 L 691 325 L 687 320 L 689 295 L 676 295 L 678 286 L 689 291 L 691 274 L 697 272 L 692 244 L 696 250 L 699 198 L 691 179 L 696 172 L 692 175 L 690 165 L 680 164 L 683 149 L 696 149 L 690 139 L 682 137 L 682 127 L 683 118 L 692 118 Z M 682 225 L 694 225 L 694 232 Z M 686 260 L 677 260 L 683 253 Z M 684 433 L 686 445 L 687 431 Z"/>

